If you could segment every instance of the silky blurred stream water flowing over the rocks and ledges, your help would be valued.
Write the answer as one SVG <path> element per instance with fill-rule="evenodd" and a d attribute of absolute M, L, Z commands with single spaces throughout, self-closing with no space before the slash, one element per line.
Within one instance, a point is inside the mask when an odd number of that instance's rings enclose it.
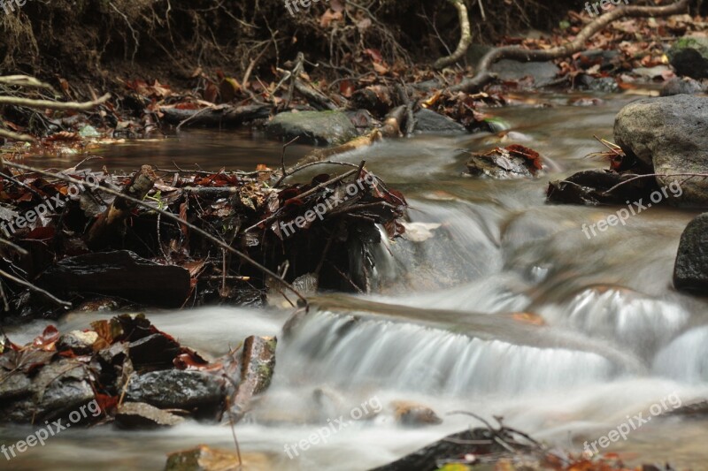
<path fill-rule="evenodd" d="M 618 208 L 544 201 L 549 179 L 605 165 L 585 158 L 599 150 L 592 136 L 612 140 L 614 115 L 636 96 L 603 98 L 579 108 L 568 95 L 546 95 L 553 107 L 492 110 L 512 126 L 508 142 L 489 133 L 419 136 L 342 156 L 366 160 L 403 191 L 411 222 L 431 236 L 377 250 L 371 295 L 321 296 L 309 314 L 290 320 L 289 312 L 245 308 L 150 315 L 158 328 L 212 355 L 251 334 L 279 337 L 273 384 L 236 427 L 249 460 L 264 469 L 364 470 L 480 425 L 449 414 L 464 410 L 503 416 L 575 452 L 643 414 L 652 420 L 608 450 L 633 464 L 708 469 L 708 422 L 654 416 L 708 395 L 708 303 L 672 286 L 681 231 L 696 213 L 652 208 L 588 239 L 582 224 Z M 466 150 L 512 141 L 539 151 L 548 173 L 512 181 L 464 174 Z M 289 148 L 289 162 L 306 150 Z M 101 165 L 245 170 L 277 165 L 280 152 L 280 144 L 249 133 L 192 131 L 106 148 Z M 70 315 L 59 327 L 86 327 L 97 317 L 107 315 Z M 29 340 L 43 325 L 16 328 L 11 338 Z M 398 400 L 432 407 L 443 423 L 396 425 L 391 403 Z M 366 406 L 381 413 L 359 418 Z M 331 424 L 341 416 L 345 426 L 337 429 Z M 334 431 L 326 444 L 297 445 L 295 456 L 293 446 L 327 427 Z M 0 429 L 0 440 L 32 431 Z M 196 422 L 155 432 L 72 429 L 12 462 L 0 457 L 0 469 L 160 469 L 166 453 L 196 444 L 231 448 L 231 430 Z"/>

